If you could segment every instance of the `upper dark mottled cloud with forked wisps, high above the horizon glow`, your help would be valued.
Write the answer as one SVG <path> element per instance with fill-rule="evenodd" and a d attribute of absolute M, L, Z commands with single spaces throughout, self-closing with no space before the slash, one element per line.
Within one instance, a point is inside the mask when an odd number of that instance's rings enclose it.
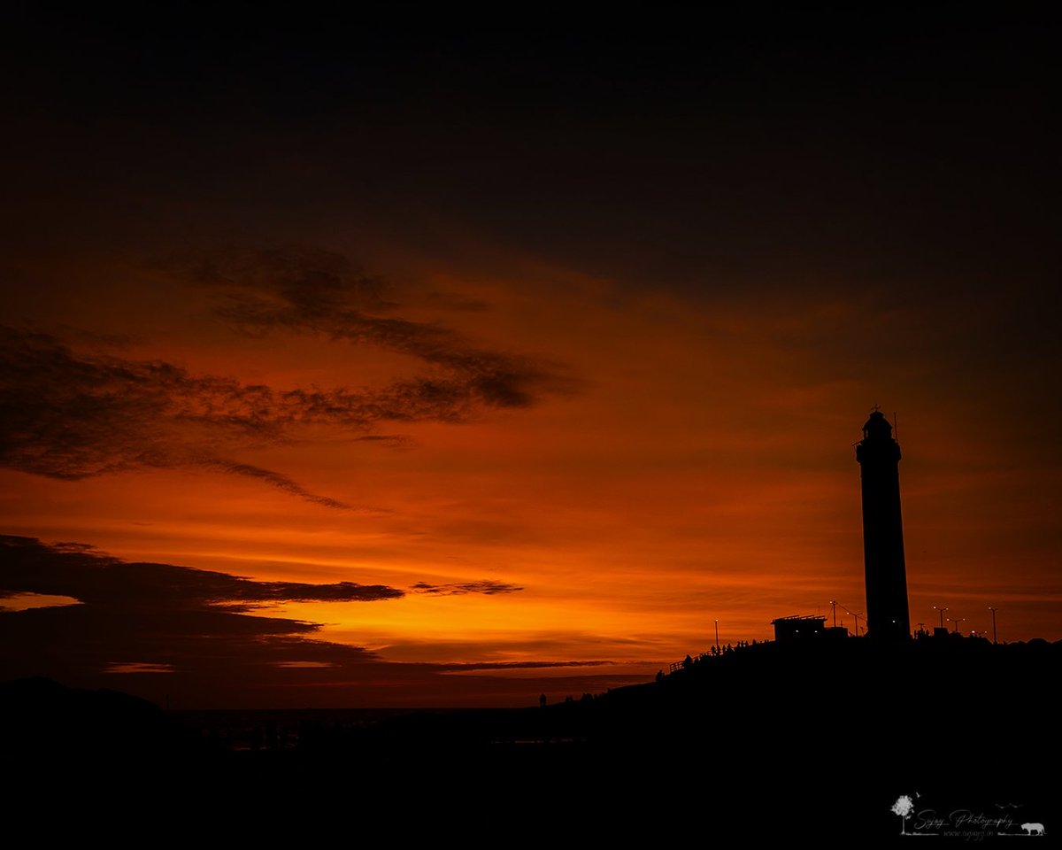
<path fill-rule="evenodd" d="M 461 422 L 481 407 L 527 406 L 564 384 L 543 366 L 469 346 L 445 328 L 376 314 L 392 307 L 382 286 L 348 272 L 342 257 L 254 257 L 257 265 L 228 269 L 232 280 L 213 266 L 194 271 L 230 290 L 221 312 L 239 328 L 373 343 L 419 357 L 429 373 L 359 391 L 277 390 L 161 360 L 79 352 L 48 334 L 0 327 L 0 465 L 66 480 L 205 469 L 343 509 L 350 506 L 233 455 L 292 442 L 320 424 L 355 440 L 402 446 L 408 440 L 400 435 L 375 431 L 382 423 Z"/>

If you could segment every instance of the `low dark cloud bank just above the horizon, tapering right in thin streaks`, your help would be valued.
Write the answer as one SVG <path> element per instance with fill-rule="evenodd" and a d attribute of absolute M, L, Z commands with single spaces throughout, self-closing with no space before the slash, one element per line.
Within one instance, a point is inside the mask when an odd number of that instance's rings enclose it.
<path fill-rule="evenodd" d="M 636 678 L 562 682 L 489 675 L 605 661 L 390 663 L 361 647 L 318 639 L 319 624 L 249 612 L 279 601 L 394 599 L 402 595 L 394 588 L 253 581 L 126 563 L 84 544 L 0 536 L 0 596 L 15 593 L 62 593 L 82 604 L 0 609 L 0 680 L 48 676 L 168 704 L 172 697 L 181 707 L 530 704 L 543 690 L 603 690 Z M 469 675 L 449 675 L 462 672 Z"/>

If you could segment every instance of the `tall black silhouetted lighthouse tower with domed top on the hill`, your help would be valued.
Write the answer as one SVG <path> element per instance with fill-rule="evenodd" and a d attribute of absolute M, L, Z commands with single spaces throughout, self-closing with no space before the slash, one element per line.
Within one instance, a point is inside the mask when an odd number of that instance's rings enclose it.
<path fill-rule="evenodd" d="M 900 517 L 900 444 L 879 410 L 863 425 L 856 460 L 862 468 L 867 636 L 902 640 L 910 636 L 911 626 Z"/>

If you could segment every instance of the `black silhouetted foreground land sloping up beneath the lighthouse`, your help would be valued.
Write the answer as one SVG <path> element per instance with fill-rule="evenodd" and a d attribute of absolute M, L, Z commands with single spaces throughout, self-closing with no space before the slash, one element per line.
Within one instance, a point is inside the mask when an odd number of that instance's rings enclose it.
<path fill-rule="evenodd" d="M 1060 672 L 1062 645 L 1043 641 L 771 643 L 545 708 L 267 721 L 246 749 L 113 692 L 12 683 L 0 699 L 28 806 L 98 815 L 106 801 L 175 828 L 224 812 L 244 834 L 342 817 L 475 843 L 693 830 L 726 846 L 879 846 L 902 830 L 1062 830 Z M 906 819 L 892 811 L 905 796 Z"/>

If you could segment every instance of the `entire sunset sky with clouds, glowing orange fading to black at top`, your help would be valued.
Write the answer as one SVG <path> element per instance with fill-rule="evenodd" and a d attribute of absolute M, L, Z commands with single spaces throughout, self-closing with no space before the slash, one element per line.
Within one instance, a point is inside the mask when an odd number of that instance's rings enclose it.
<path fill-rule="evenodd" d="M 4 12 L 0 678 L 521 706 L 851 627 L 875 405 L 911 623 L 1062 639 L 1045 21 L 167 8 Z"/>

